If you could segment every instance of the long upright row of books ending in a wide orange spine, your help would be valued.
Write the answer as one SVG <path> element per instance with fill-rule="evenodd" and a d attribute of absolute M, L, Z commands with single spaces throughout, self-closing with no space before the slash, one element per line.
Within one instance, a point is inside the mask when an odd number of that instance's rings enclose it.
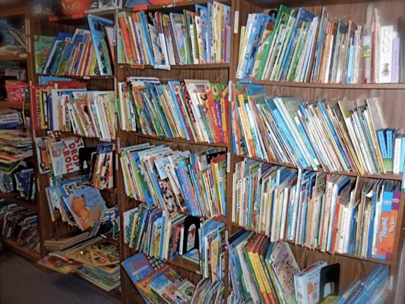
<path fill-rule="evenodd" d="M 270 241 L 391 260 L 400 183 L 236 163 L 232 221 Z M 389 221 L 387 220 L 389 218 Z"/>

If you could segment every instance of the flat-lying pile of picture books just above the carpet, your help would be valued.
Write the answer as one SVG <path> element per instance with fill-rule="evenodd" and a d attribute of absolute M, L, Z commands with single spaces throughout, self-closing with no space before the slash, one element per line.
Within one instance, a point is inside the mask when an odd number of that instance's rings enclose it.
<path fill-rule="evenodd" d="M 118 246 L 101 237 L 50 252 L 37 263 L 62 274 L 74 272 L 105 291 L 117 288 L 121 282 Z"/>

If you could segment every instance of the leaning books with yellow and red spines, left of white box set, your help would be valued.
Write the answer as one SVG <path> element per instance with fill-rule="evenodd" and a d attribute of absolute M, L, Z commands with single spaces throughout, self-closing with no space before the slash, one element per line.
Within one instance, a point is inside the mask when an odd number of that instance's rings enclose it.
<path fill-rule="evenodd" d="M 228 239 L 229 270 L 238 302 L 294 303 L 300 269 L 289 244 L 240 230 Z"/>

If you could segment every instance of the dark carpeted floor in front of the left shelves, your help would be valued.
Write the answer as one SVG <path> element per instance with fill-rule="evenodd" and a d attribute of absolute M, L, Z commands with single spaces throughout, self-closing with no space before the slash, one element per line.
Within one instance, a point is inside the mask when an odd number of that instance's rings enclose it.
<path fill-rule="evenodd" d="M 0 304 L 118 304 L 73 275 L 44 271 L 10 251 L 0 259 Z"/>

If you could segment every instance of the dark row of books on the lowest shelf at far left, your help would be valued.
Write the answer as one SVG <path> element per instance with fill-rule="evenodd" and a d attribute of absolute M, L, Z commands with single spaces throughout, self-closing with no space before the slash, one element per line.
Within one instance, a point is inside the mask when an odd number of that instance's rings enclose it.
<path fill-rule="evenodd" d="M 2 200 L 0 229 L 2 238 L 11 239 L 19 246 L 33 252 L 41 251 L 36 211 Z"/>

